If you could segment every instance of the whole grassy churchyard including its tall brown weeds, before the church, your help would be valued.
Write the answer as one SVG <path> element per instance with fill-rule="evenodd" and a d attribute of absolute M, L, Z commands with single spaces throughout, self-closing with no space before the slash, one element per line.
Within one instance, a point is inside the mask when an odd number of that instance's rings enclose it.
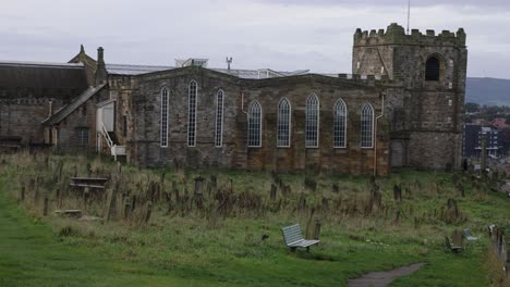
<path fill-rule="evenodd" d="M 465 197 L 452 174 L 403 171 L 381 177 L 377 205 L 365 176 L 133 166 L 119 175 L 111 162 L 85 157 L 22 153 L 1 161 L 0 286 L 345 286 L 366 272 L 416 262 L 426 265 L 392 286 L 498 286 L 501 277 L 485 230 L 490 223 L 509 224 L 510 201 L 484 184 L 472 187 L 469 177 L 456 176 Z M 74 174 L 113 175 L 112 220 L 41 215 L 44 197 L 50 211 L 60 205 L 105 215 L 104 200 L 84 203 L 60 191 Z M 206 178 L 199 207 L 193 200 L 198 175 Z M 209 188 L 211 175 L 217 188 Z M 305 178 L 316 188 L 305 187 Z M 403 186 L 402 202 L 393 200 L 394 184 Z M 124 219 L 125 199 L 133 196 L 136 208 Z M 446 208 L 450 198 L 457 216 Z M 153 212 L 144 223 L 147 200 Z M 316 221 L 320 245 L 309 253 L 289 252 L 280 228 L 300 223 L 312 234 Z M 463 253 L 448 252 L 444 236 L 465 227 L 482 239 L 466 242 Z"/>

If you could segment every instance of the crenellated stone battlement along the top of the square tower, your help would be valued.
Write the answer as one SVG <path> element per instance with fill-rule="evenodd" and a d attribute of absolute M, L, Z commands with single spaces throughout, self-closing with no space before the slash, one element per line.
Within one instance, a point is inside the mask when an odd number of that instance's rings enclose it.
<path fill-rule="evenodd" d="M 411 35 L 405 34 L 405 29 L 392 23 L 388 28 L 375 30 L 363 30 L 357 28 L 354 33 L 354 47 L 359 46 L 381 46 L 381 45 L 423 45 L 423 46 L 451 46 L 465 47 L 465 32 L 459 28 L 457 33 L 442 30 L 436 36 L 436 32 L 427 29 L 422 34 L 418 29 L 412 29 Z"/>

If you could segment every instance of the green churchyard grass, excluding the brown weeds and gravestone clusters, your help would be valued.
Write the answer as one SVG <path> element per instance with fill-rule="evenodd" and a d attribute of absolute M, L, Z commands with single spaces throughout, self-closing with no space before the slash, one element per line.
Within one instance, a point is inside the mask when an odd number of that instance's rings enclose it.
<path fill-rule="evenodd" d="M 320 239 L 312 252 L 290 253 L 282 245 L 280 228 L 295 222 L 303 228 L 309 212 L 293 210 L 299 195 L 306 195 L 308 204 L 331 201 L 362 202 L 367 198 L 367 178 L 364 176 L 313 176 L 318 183 L 317 194 L 303 188 L 304 176 L 281 175 L 291 185 L 293 196 L 288 207 L 278 213 L 235 210 L 227 217 L 214 213 L 191 211 L 166 214 L 165 204 L 156 204 L 150 224 L 112 221 L 109 223 L 78 222 L 53 215 L 41 217 L 40 208 L 34 208 L 27 191 L 24 204 L 15 198 L 20 183 L 40 175 L 50 178 L 53 163 L 41 169 L 42 159 L 35 161 L 26 154 L 8 157 L 0 167 L 0 286 L 344 286 L 371 271 L 391 270 L 416 262 L 427 264 L 416 273 L 399 278 L 393 286 L 488 286 L 486 265 L 488 239 L 467 242 L 466 251 L 452 254 L 445 250 L 442 237 L 453 228 L 470 227 L 475 235 L 485 236 L 489 223 L 503 224 L 510 202 L 502 196 L 467 190 L 458 198 L 451 185 L 451 174 L 404 171 L 379 180 L 382 201 L 389 211 L 375 214 L 344 215 L 331 210 L 317 212 L 314 219 L 323 223 Z M 64 159 L 64 177 L 73 172 L 84 158 Z M 22 171 L 17 172 L 16 165 Z M 83 166 L 76 167 L 85 174 Z M 92 169 L 111 170 L 108 162 L 93 161 Z M 166 180 L 178 180 L 181 190 L 192 190 L 196 175 L 218 175 L 219 185 L 232 179 L 234 191 L 248 191 L 268 197 L 270 175 L 266 172 L 167 170 Z M 138 171 L 125 166 L 125 189 L 143 195 L 143 185 L 159 178 L 161 170 Z M 22 175 L 20 175 L 22 174 Z M 17 176 L 20 175 L 20 176 Z M 412 187 L 401 204 L 393 202 L 394 183 Z M 433 183 L 445 182 L 446 187 L 434 190 Z M 49 182 L 49 180 L 48 180 Z M 340 194 L 330 191 L 338 184 Z M 42 192 L 51 199 L 54 209 L 54 188 L 61 183 L 46 184 Z M 142 187 L 142 190 L 137 190 Z M 447 224 L 437 216 L 446 199 L 456 197 L 466 222 Z M 70 199 L 65 208 L 84 208 Z M 348 203 L 345 203 L 348 204 Z M 361 204 L 361 203 L 360 203 Z M 21 207 L 21 208 L 20 208 Z M 394 211 L 402 217 L 394 223 Z M 88 213 L 99 215 L 101 207 L 87 207 Z M 414 226 L 414 217 L 423 219 Z M 71 230 L 62 235 L 62 230 Z M 267 240 L 262 236 L 267 235 Z"/>

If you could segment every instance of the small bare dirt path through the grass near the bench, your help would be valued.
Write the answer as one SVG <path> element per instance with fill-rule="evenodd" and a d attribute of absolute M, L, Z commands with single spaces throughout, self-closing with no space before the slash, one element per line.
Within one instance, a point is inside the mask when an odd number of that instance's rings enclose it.
<path fill-rule="evenodd" d="M 425 263 L 416 263 L 387 272 L 371 272 L 360 278 L 350 279 L 349 287 L 385 287 L 393 279 L 416 272 Z"/>

